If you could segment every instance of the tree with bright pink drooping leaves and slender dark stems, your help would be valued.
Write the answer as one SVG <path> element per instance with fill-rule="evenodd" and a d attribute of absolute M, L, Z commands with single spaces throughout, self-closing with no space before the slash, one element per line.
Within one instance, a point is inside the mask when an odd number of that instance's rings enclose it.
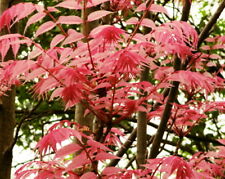
<path fill-rule="evenodd" d="M 51 7 L 21 3 L 5 11 L 0 29 L 27 17 L 25 31 L 43 23 L 33 37 L 0 37 L 6 44 L 2 59 L 10 46 L 15 55 L 19 49 L 25 54 L 1 62 L 1 94 L 30 82 L 42 100 L 62 99 L 66 110 L 82 105 L 85 115 L 101 123 L 93 131 L 74 121 L 55 123 L 37 144 L 41 160 L 25 164 L 16 177 L 223 178 L 225 140 L 217 120 L 225 103 L 210 97 L 224 94 L 225 40 L 212 28 L 225 1 L 199 29 L 188 23 L 193 3 L 198 2 L 182 1 L 176 9 L 170 1 L 66 0 Z M 167 5 L 173 5 L 172 18 Z M 94 7 L 99 10 L 80 17 Z M 59 15 L 64 9 L 71 14 Z M 99 26 L 90 34 L 81 33 L 81 24 L 96 20 Z M 44 34 L 52 37 L 47 46 L 40 41 Z M 210 122 L 218 139 L 204 131 Z M 156 128 L 155 135 L 147 125 Z M 119 136 L 125 133 L 130 136 L 123 143 Z"/>

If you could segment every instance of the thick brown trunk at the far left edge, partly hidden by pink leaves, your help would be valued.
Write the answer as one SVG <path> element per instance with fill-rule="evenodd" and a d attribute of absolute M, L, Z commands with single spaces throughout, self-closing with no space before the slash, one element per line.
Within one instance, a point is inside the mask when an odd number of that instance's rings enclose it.
<path fill-rule="evenodd" d="M 9 0 L 0 0 L 0 15 L 8 8 Z M 11 52 L 10 52 L 11 53 Z M 12 57 L 8 54 L 5 61 Z M 0 97 L 0 179 L 10 179 L 12 144 L 15 127 L 15 89 Z"/>

